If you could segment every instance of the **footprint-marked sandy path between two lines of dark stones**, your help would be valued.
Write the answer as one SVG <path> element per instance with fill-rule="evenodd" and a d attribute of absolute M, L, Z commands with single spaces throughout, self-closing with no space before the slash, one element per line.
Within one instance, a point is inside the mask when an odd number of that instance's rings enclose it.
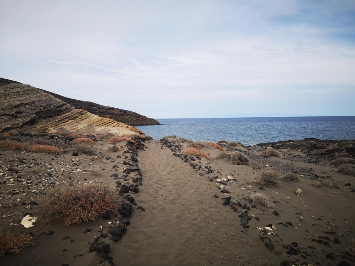
<path fill-rule="evenodd" d="M 146 211 L 135 210 L 125 237 L 111 246 L 116 265 L 267 265 L 261 241 L 241 232 L 239 214 L 212 198 L 206 177 L 159 142 L 138 160 L 143 186 L 135 199 Z"/>

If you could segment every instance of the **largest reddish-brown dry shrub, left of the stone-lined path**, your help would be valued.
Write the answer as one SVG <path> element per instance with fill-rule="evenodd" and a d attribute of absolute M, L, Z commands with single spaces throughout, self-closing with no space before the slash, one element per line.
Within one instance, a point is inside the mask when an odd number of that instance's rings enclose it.
<path fill-rule="evenodd" d="M 65 225 L 94 221 L 99 214 L 117 211 L 118 197 L 101 184 L 62 186 L 50 190 L 42 201 L 45 222 L 63 219 Z"/>

